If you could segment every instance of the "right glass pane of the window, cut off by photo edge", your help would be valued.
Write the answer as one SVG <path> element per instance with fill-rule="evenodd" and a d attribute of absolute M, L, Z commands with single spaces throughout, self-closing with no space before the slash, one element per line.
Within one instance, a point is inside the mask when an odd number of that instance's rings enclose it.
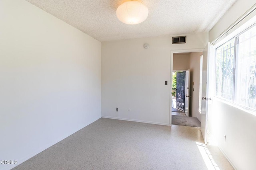
<path fill-rule="evenodd" d="M 236 49 L 235 102 L 256 110 L 256 26 L 239 35 Z"/>

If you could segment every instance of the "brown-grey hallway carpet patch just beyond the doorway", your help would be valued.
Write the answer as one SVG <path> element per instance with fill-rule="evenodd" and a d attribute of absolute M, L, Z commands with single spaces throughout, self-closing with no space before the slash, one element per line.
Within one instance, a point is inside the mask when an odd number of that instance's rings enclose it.
<path fill-rule="evenodd" d="M 172 124 L 201 127 L 201 122 L 196 117 L 187 117 L 187 116 L 179 116 L 179 115 L 172 115 Z"/>

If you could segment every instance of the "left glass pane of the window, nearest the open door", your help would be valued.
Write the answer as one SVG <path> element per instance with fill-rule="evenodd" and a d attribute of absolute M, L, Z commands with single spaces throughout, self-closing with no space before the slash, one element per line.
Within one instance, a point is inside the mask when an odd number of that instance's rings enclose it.
<path fill-rule="evenodd" d="M 216 96 L 233 100 L 235 38 L 216 49 Z"/>

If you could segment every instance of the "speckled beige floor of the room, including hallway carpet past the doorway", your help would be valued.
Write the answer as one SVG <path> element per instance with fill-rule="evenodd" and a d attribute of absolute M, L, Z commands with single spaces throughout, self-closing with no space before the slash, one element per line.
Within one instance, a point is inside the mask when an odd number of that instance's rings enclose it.
<path fill-rule="evenodd" d="M 209 164 L 206 164 L 206 160 Z M 98 119 L 14 168 L 145 169 L 233 170 L 217 146 L 204 145 L 199 128 L 106 118 Z"/>

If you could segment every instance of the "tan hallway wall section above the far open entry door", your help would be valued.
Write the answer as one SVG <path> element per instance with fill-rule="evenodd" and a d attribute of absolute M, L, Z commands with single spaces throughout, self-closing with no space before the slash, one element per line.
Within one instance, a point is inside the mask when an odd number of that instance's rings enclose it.
<path fill-rule="evenodd" d="M 173 54 L 173 71 L 188 70 L 189 69 L 189 53 Z"/>

